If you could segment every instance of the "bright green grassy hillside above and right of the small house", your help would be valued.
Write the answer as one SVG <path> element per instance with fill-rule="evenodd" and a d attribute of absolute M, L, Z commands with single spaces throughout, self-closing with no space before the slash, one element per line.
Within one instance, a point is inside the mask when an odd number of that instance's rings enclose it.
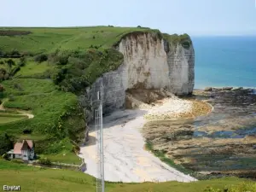
<path fill-rule="evenodd" d="M 12 79 L 3 81 L 3 86 L 5 96 L 12 98 L 4 102 L 4 107 L 31 110 L 34 118 L 2 124 L 0 132 L 35 140 L 36 152 L 44 156 L 48 154 L 50 160 L 79 164 L 81 161 L 72 153 L 73 145 L 64 139 L 75 140 L 79 137 L 77 132 L 85 129 L 77 97 L 55 90 L 50 79 Z M 24 134 L 24 131 L 32 134 Z"/>

